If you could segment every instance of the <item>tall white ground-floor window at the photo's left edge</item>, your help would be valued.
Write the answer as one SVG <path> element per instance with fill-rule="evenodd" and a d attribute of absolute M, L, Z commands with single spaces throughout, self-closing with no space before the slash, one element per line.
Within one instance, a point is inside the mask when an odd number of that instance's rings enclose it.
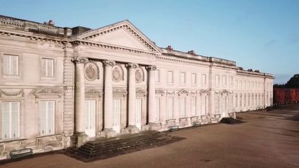
<path fill-rule="evenodd" d="M 19 137 L 19 102 L 2 103 L 2 138 Z"/>

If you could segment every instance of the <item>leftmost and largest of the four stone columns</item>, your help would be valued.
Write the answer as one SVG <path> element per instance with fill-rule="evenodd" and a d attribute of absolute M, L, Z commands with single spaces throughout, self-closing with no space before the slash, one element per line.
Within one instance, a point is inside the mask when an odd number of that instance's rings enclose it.
<path fill-rule="evenodd" d="M 84 130 L 84 64 L 89 61 L 86 57 L 73 57 L 75 63 L 75 131 L 73 133 L 73 144 L 80 147 L 88 141 Z"/>

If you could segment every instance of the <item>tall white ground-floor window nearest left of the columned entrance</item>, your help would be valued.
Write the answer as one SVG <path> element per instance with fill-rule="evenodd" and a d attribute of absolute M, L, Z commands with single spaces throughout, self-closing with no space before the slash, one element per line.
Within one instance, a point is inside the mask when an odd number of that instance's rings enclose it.
<path fill-rule="evenodd" d="M 55 102 L 42 101 L 39 104 L 41 135 L 54 134 Z"/>

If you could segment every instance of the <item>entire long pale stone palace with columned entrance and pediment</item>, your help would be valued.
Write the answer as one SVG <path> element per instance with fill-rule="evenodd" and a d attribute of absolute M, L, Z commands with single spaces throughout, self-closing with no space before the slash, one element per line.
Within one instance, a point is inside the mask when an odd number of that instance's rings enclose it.
<path fill-rule="evenodd" d="M 125 20 L 98 29 L 0 15 L 0 158 L 219 122 L 272 105 L 273 75 L 160 48 Z"/>

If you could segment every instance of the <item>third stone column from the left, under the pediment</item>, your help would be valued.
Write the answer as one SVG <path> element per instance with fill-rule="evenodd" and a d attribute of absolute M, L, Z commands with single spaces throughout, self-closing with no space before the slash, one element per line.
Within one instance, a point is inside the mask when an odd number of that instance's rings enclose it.
<path fill-rule="evenodd" d="M 129 68 L 129 103 L 128 103 L 128 112 L 129 112 L 129 125 L 127 127 L 129 133 L 138 133 L 139 130 L 136 127 L 136 68 L 138 64 L 128 63 L 125 65 Z"/>

